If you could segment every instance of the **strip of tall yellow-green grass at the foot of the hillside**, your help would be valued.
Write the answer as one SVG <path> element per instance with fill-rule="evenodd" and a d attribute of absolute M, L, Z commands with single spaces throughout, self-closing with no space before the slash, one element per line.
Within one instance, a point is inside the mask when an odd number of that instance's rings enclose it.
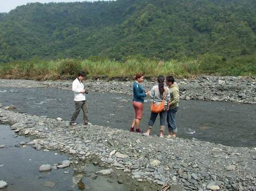
<path fill-rule="evenodd" d="M 204 55 L 197 59 L 159 61 L 141 57 L 129 57 L 122 61 L 102 58 L 86 60 L 30 60 L 0 63 L 0 78 L 14 79 L 60 79 L 86 71 L 89 78 L 126 78 L 137 72 L 146 77 L 174 75 L 196 77 L 202 74 L 256 75 L 256 57 L 247 56 L 225 61 L 218 56 Z"/>

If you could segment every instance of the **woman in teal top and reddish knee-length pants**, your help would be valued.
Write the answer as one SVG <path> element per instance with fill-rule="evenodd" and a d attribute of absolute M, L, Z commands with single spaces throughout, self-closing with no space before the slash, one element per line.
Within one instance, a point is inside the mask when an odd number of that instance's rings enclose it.
<path fill-rule="evenodd" d="M 135 117 L 133 122 L 131 123 L 130 131 L 134 132 L 134 127 L 136 125 L 136 132 L 141 133 L 142 131 L 139 129 L 139 124 L 141 123 L 142 118 L 144 97 L 150 94 L 150 91 L 145 93 L 144 88 L 141 85 L 144 80 L 144 76 L 142 73 L 137 73 L 134 76 L 134 79 L 135 82 L 133 83 L 133 107 L 135 110 Z"/>

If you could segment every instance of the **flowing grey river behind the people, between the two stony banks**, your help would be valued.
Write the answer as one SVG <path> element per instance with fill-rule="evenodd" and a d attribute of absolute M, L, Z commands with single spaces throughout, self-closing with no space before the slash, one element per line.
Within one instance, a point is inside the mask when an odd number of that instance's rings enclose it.
<path fill-rule="evenodd" d="M 92 124 L 129 130 L 134 117 L 132 96 L 89 92 L 86 99 Z M 21 113 L 64 120 L 70 120 L 75 109 L 73 92 L 57 88 L 0 88 L 0 103 L 13 104 Z M 146 100 L 142 130 L 146 130 L 149 118 L 150 102 Z M 256 146 L 256 105 L 181 100 L 176 118 L 181 138 L 196 138 L 228 146 Z M 77 122 L 82 122 L 81 113 Z M 159 118 L 152 129 L 153 135 L 158 133 Z"/>

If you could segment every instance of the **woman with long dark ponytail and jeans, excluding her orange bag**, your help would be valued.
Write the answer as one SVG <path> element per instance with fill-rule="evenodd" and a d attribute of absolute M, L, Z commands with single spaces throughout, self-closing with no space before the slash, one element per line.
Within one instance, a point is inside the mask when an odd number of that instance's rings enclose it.
<path fill-rule="evenodd" d="M 164 111 L 159 113 L 160 116 L 160 134 L 159 137 L 164 136 L 164 129 L 166 127 L 166 117 L 169 108 L 170 91 L 169 88 L 164 86 L 164 77 L 160 75 L 158 77 L 158 85 L 152 87 L 150 91 L 150 99 L 154 104 L 160 104 L 164 100 Z M 158 113 L 151 112 L 150 120 L 148 121 L 148 127 L 144 135 L 149 136 L 152 126 L 155 123 Z"/>

